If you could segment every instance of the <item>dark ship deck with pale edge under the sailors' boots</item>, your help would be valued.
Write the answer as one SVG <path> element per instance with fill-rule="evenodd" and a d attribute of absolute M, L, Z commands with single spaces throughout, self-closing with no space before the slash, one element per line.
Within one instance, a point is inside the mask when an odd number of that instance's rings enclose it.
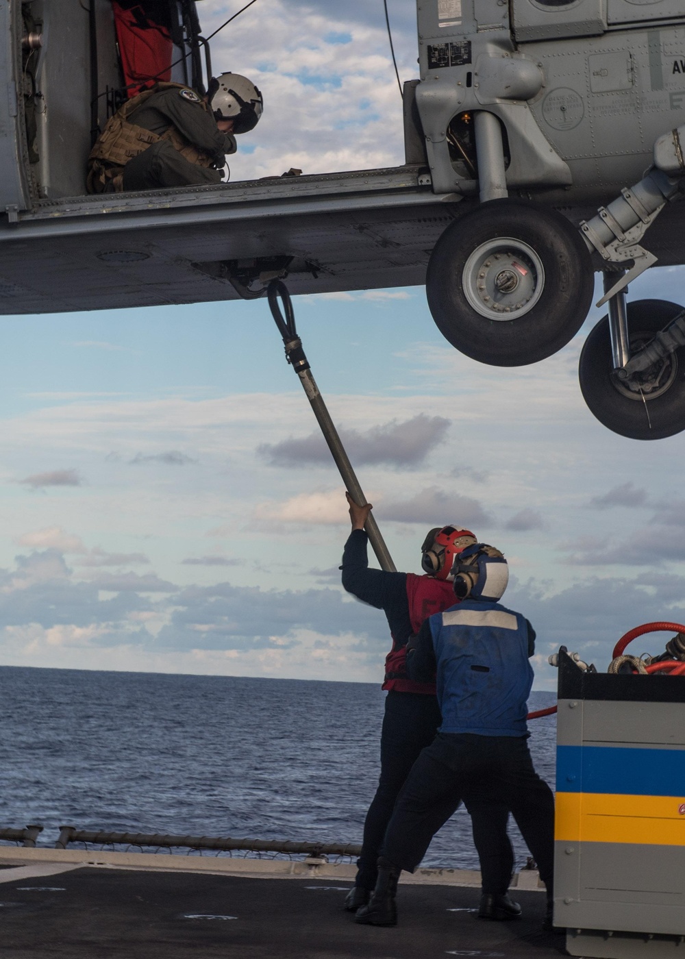
<path fill-rule="evenodd" d="M 129 856 L 135 867 L 127 868 L 111 854 L 82 853 L 86 861 L 79 862 L 76 851 L 53 854 L 53 861 L 44 861 L 39 850 L 1 852 L 3 959 L 555 959 L 566 954 L 563 936 L 541 930 L 545 897 L 539 891 L 514 892 L 524 909 L 521 921 L 483 922 L 473 911 L 477 886 L 452 884 L 459 877 L 449 871 L 444 882 L 436 871 L 402 882 L 399 924 L 375 928 L 355 924 L 342 910 L 351 885 L 349 866 L 286 875 L 278 871 L 280 864 L 271 870 L 262 862 L 256 871 L 245 860 L 233 860 L 235 871 L 244 875 L 231 875 L 230 860 L 213 864 L 206 857 L 200 865 L 192 857 L 137 854 Z M 177 861 L 182 858 L 185 862 Z M 150 865 L 140 865 L 143 860 Z"/>

